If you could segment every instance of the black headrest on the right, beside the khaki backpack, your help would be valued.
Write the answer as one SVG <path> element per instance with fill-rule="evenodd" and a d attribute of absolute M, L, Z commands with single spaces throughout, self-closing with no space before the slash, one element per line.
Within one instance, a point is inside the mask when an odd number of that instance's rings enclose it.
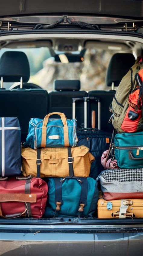
<path fill-rule="evenodd" d="M 106 85 L 118 86 L 123 76 L 135 64 L 135 57 L 132 53 L 116 53 L 112 56 L 107 72 L 106 72 Z"/>

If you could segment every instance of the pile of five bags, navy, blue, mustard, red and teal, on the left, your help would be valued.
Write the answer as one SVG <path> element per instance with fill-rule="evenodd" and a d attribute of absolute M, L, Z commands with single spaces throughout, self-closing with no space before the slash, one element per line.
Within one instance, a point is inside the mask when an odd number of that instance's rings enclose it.
<path fill-rule="evenodd" d="M 49 118 L 53 114 L 60 118 Z M 44 120 L 31 118 L 22 150 L 20 141 L 17 118 L 6 117 L 5 122 L 2 118 L 2 145 L 9 150 L 2 150 L 0 216 L 93 217 L 99 192 L 97 181 L 88 176 L 94 157 L 86 146 L 75 147 L 76 119 L 66 119 L 57 112 L 49 113 Z"/>

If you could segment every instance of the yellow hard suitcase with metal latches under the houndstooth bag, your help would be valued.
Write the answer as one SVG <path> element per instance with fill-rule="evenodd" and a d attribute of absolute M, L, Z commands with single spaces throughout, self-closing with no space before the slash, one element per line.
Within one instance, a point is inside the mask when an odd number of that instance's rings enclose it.
<path fill-rule="evenodd" d="M 97 203 L 98 219 L 143 218 L 143 199 L 120 199 L 106 201 L 100 193 Z"/>

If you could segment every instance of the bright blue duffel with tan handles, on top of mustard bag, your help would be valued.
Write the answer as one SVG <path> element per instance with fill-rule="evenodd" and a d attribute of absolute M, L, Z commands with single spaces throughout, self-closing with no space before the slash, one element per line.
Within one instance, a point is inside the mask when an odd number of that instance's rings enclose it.
<path fill-rule="evenodd" d="M 55 114 L 61 118 L 49 119 Z M 44 120 L 31 118 L 24 147 L 75 147 L 77 141 L 76 119 L 66 119 L 63 113 L 53 112 L 46 115 Z"/>

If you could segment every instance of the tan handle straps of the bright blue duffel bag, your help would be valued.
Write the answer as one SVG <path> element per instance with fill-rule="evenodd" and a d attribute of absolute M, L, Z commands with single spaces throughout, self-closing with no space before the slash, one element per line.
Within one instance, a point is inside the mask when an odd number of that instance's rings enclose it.
<path fill-rule="evenodd" d="M 65 147 L 69 147 L 68 125 L 67 125 L 66 116 L 64 115 L 64 113 L 60 113 L 60 112 L 52 112 L 45 116 L 43 120 L 43 126 L 42 126 L 41 147 L 46 147 L 47 123 L 48 123 L 49 117 L 52 115 L 59 115 L 61 117 L 61 120 L 64 126 L 64 144 L 65 144 Z"/>

